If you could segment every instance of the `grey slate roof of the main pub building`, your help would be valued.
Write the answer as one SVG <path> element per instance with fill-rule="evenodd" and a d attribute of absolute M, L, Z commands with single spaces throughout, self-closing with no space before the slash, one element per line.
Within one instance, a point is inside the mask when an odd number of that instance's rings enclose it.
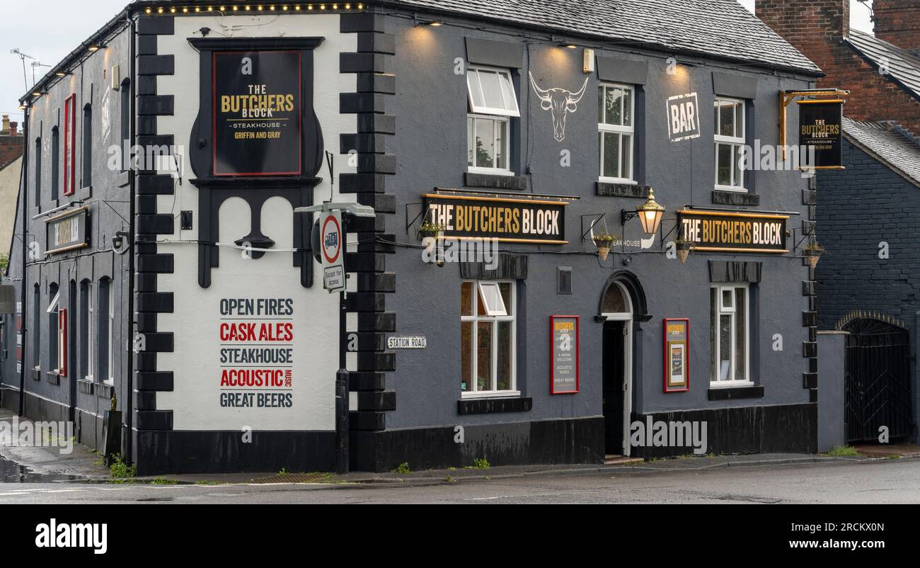
<path fill-rule="evenodd" d="M 738 0 L 391 0 L 534 28 L 821 74 Z"/>

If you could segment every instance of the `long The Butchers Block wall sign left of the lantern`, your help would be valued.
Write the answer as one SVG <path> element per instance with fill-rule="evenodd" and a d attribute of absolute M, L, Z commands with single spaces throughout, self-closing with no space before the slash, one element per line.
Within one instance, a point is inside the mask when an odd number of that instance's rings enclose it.
<path fill-rule="evenodd" d="M 497 238 L 502 242 L 568 244 L 566 205 L 546 200 L 466 195 L 423 195 L 427 220 L 445 238 Z"/>

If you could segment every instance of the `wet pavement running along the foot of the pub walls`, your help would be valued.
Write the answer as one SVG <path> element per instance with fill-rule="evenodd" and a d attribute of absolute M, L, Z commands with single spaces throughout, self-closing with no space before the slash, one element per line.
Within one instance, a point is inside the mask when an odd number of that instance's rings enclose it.
<path fill-rule="evenodd" d="M 0 411 L 0 423 L 11 423 L 15 414 Z M 28 422 L 28 421 L 25 421 Z M 72 440 L 70 440 L 72 442 Z M 524 478 L 627 476 L 630 474 L 682 471 L 693 474 L 717 469 L 765 468 L 780 466 L 818 466 L 832 463 L 890 461 L 893 457 L 920 458 L 920 447 L 860 446 L 860 455 L 828 456 L 803 454 L 755 454 L 746 456 L 685 456 L 682 458 L 637 460 L 618 459 L 605 465 L 503 466 L 488 469 L 429 469 L 424 471 L 335 475 L 324 472 L 257 472 L 200 475 L 168 475 L 131 480 L 112 479 L 98 454 L 86 446 L 73 444 L 72 451 L 62 452 L 62 436 L 43 440 L 43 446 L 16 447 L 0 445 L 0 483 L 83 482 L 83 483 L 153 483 L 156 485 L 310 485 L 347 486 L 430 486 L 465 481 L 504 481 Z"/>

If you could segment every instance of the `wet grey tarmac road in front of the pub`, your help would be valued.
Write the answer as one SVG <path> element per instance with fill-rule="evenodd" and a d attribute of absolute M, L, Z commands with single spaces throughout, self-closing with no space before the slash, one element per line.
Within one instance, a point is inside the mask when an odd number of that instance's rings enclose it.
<path fill-rule="evenodd" d="M 532 476 L 438 485 L 0 483 L 0 504 L 920 504 L 920 460 Z"/>

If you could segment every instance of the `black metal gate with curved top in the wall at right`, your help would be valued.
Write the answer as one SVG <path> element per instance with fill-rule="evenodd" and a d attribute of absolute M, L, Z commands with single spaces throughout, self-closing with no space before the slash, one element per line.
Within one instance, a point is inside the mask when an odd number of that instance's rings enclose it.
<path fill-rule="evenodd" d="M 847 442 L 878 441 L 911 434 L 910 333 L 879 319 L 846 323 L 845 422 Z"/>

